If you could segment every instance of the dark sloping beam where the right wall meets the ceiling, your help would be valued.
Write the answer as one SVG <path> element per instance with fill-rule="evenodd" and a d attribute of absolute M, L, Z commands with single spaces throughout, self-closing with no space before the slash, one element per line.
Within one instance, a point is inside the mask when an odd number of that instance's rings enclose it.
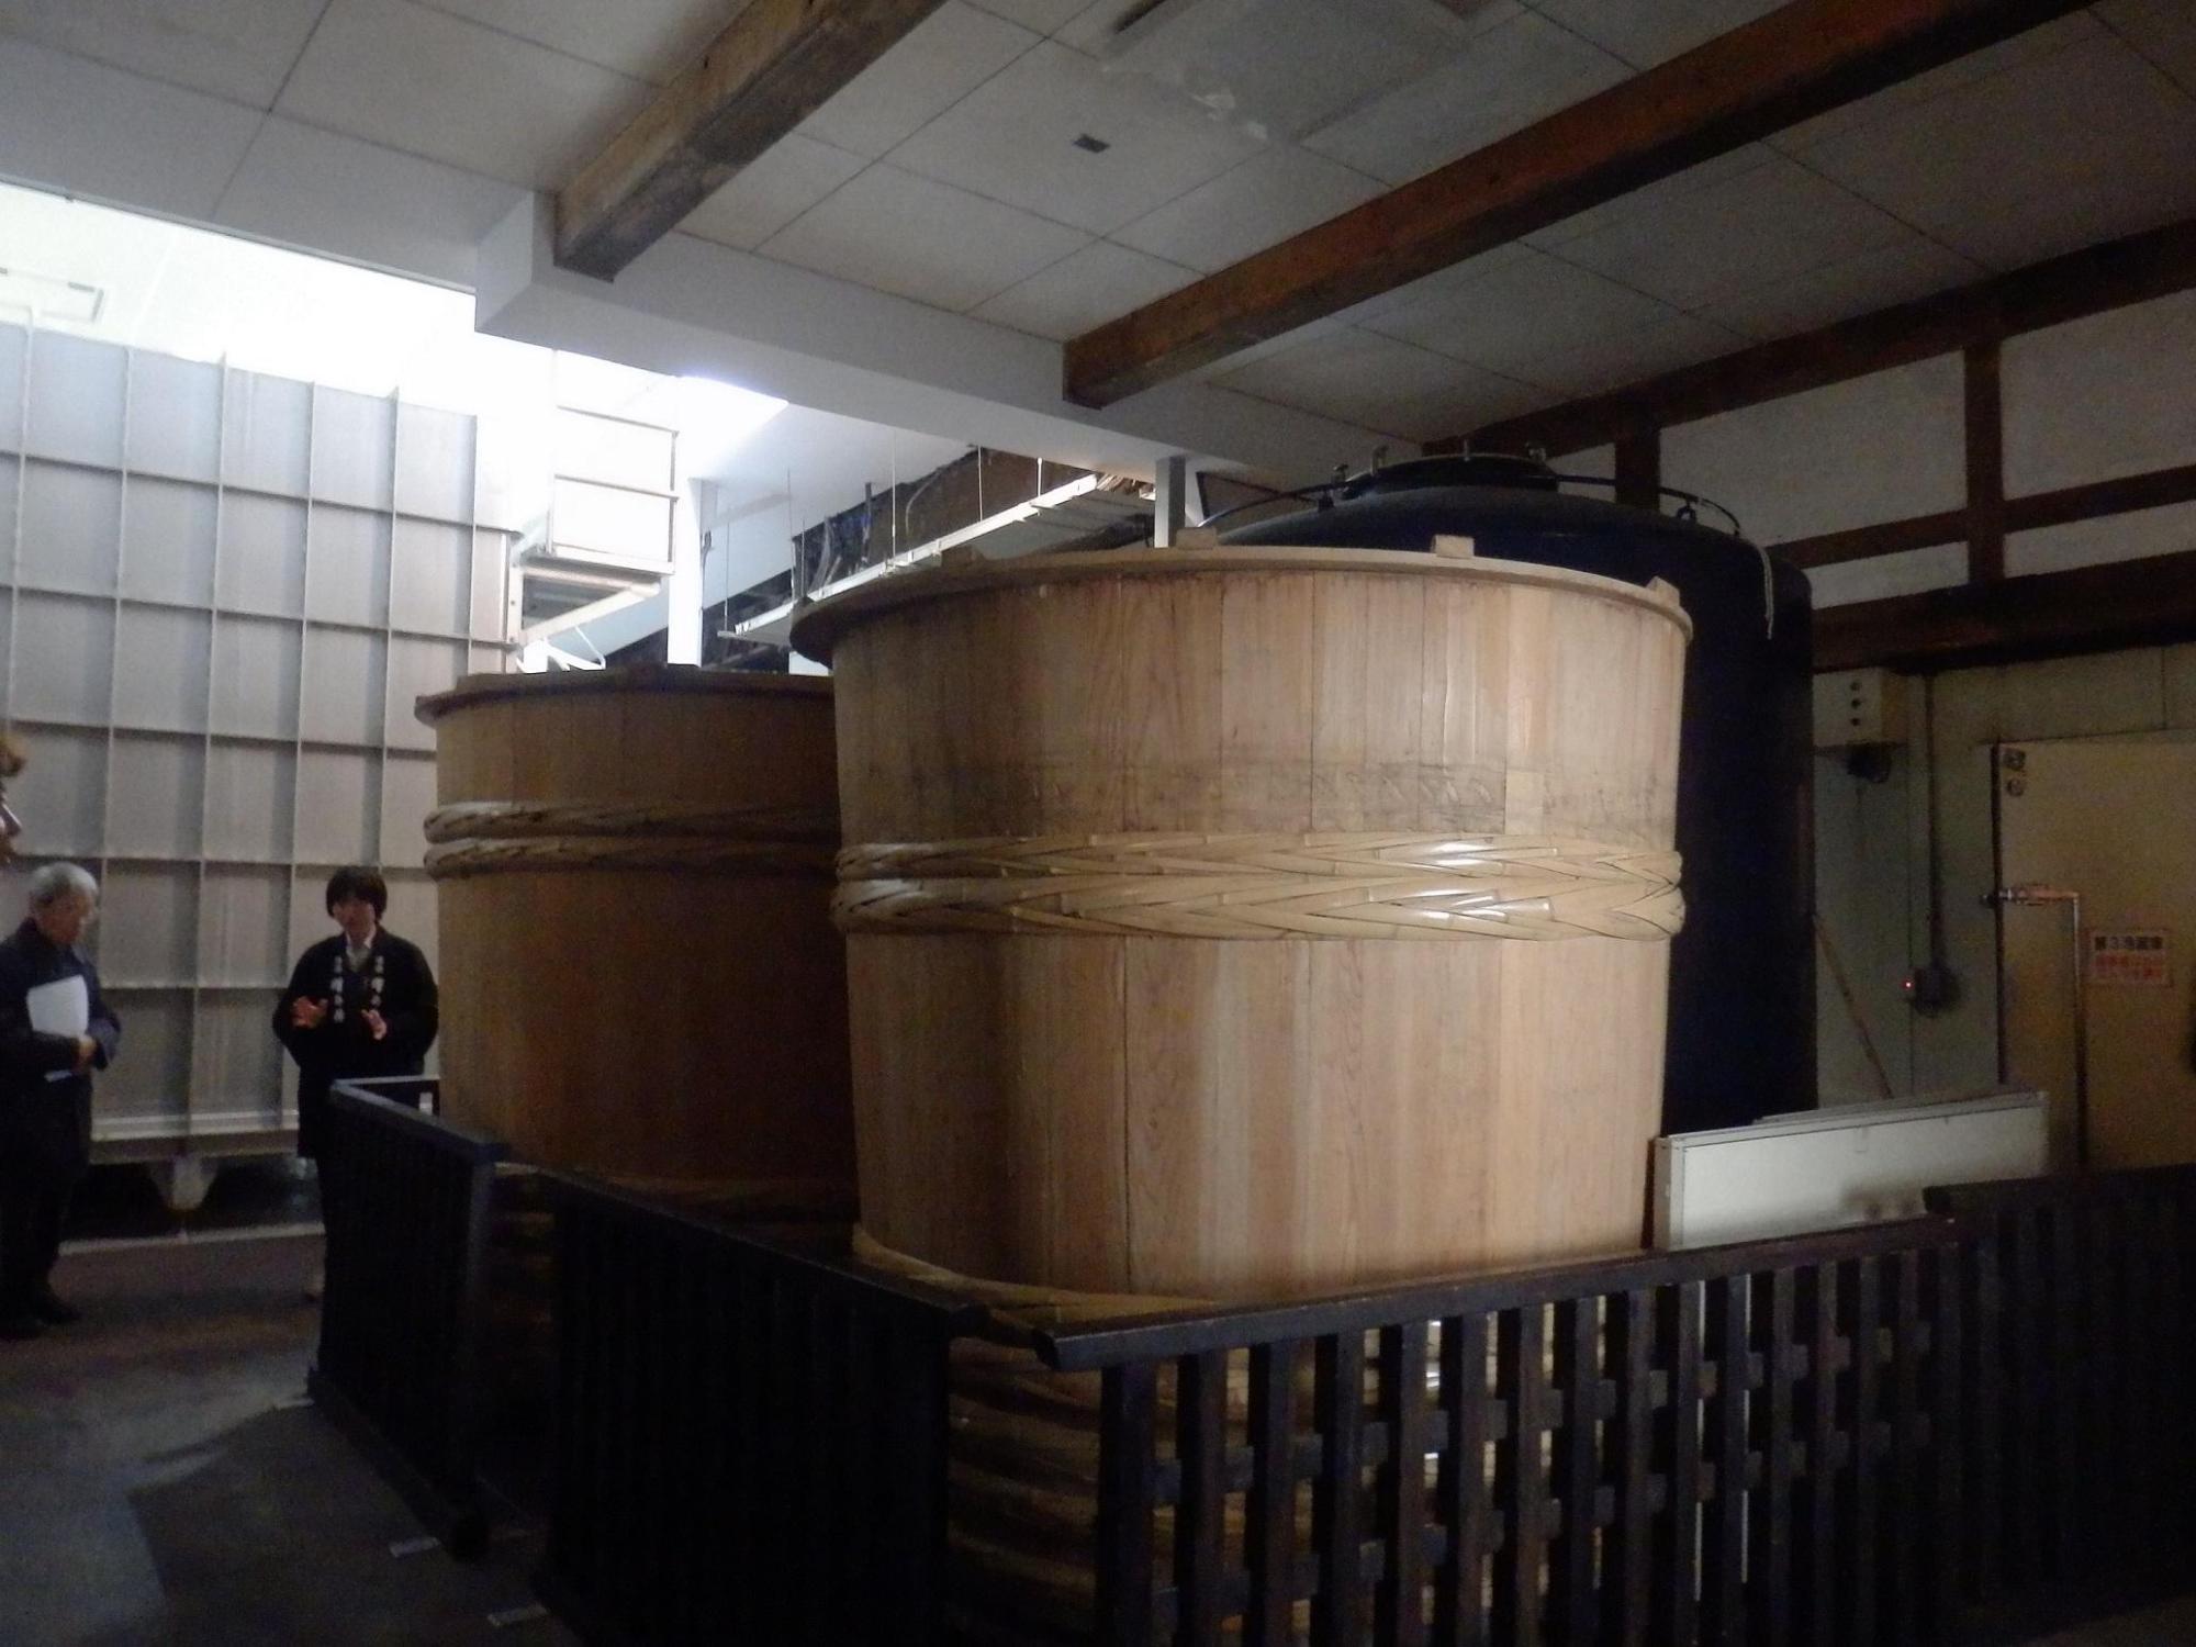
<path fill-rule="evenodd" d="M 1544 446 L 1550 457 L 1561 457 L 1647 428 L 1691 424 L 1952 354 L 1974 343 L 2040 332 L 2128 303 L 2148 303 L 2192 285 L 2196 285 L 2196 220 L 2086 246 L 2012 274 L 1838 321 L 1816 332 L 1757 343 L 1632 389 L 1506 417 L 1469 437 L 1434 441 L 1427 450 L 1454 450 L 1469 439 L 1476 450 L 1487 452 Z"/>

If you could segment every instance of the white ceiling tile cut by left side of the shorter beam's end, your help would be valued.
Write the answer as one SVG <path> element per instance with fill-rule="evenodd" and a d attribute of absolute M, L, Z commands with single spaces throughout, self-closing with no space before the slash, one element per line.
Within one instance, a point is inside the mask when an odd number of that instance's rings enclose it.
<path fill-rule="evenodd" d="M 637 79 L 415 0 L 334 0 L 277 108 L 367 143 L 556 189 L 650 94 Z"/>

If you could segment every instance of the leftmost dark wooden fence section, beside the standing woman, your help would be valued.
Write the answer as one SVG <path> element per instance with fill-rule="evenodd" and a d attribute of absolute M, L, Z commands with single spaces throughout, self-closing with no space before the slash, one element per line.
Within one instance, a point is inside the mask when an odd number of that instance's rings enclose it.
<path fill-rule="evenodd" d="M 329 1096 L 327 1291 L 307 1392 L 444 1546 L 474 1555 L 481 1254 L 503 1146 L 422 1113 L 433 1091 L 419 1078 Z"/>

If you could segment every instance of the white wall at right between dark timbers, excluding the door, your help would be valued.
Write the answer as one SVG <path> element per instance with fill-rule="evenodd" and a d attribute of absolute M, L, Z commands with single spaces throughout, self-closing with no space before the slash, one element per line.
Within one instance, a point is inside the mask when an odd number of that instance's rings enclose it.
<path fill-rule="evenodd" d="M 2001 360 L 2009 498 L 2196 461 L 2196 292 L 2012 338 Z M 1594 455 L 1599 457 L 1599 455 Z M 1594 459 L 1572 459 L 1594 461 Z M 1662 477 L 1737 512 L 1766 545 L 1957 509 L 1965 501 L 1961 358 L 1939 356 L 1665 430 Z M 2196 549 L 2196 505 L 2007 538 L 2007 573 Z M 1965 545 L 1810 573 L 1816 606 L 1943 589 Z M 2018 738 L 2196 731 L 2196 646 L 2143 648 L 1908 683 L 1913 742 L 1882 782 L 1816 760 L 1816 896 L 1858 1017 L 1893 1091 L 1996 1078 L 1996 925 L 1990 744 Z M 1943 925 L 1959 1004 L 1926 1019 L 1900 990 L 1928 957 L 1928 802 L 1935 793 Z M 1820 957 L 1818 957 L 1820 962 Z M 1882 1087 L 1856 1015 L 1818 964 L 1829 1100 Z"/>

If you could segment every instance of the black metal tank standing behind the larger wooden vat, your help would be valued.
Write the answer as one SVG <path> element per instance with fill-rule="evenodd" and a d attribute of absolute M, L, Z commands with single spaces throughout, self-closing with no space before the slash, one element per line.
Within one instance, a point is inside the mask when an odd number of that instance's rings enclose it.
<path fill-rule="evenodd" d="M 1667 578 L 1693 619 L 1678 758 L 1684 931 L 1671 946 L 1662 1127 L 1812 1109 L 1814 804 L 1807 578 L 1689 518 L 1557 490 L 1537 461 L 1454 457 L 1342 483 L 1221 542 L 1432 549 Z"/>

